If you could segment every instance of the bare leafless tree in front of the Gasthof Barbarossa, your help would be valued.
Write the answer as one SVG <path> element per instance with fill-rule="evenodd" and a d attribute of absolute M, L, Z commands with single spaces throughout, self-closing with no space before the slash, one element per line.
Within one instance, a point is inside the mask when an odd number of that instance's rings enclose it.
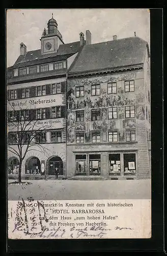
<path fill-rule="evenodd" d="M 45 143 L 43 133 L 51 125 L 38 125 L 39 119 L 36 117 L 35 109 L 21 109 L 19 106 L 19 110 L 16 111 L 10 101 L 8 104 L 12 109 L 8 112 L 8 122 L 13 127 L 13 131 L 10 129 L 8 139 L 14 142 L 8 142 L 8 150 L 19 158 L 18 182 L 21 182 L 21 166 L 27 152 L 39 151 L 45 155 L 48 154 L 49 150 L 42 145 Z M 34 146 L 37 146 L 38 149 L 33 148 Z"/>

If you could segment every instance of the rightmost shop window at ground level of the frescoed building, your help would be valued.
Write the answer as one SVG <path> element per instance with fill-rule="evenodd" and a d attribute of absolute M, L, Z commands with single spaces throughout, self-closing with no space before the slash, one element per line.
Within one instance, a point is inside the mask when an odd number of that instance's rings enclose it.
<path fill-rule="evenodd" d="M 135 175 L 136 156 L 135 154 L 123 154 L 124 157 L 124 175 Z"/>

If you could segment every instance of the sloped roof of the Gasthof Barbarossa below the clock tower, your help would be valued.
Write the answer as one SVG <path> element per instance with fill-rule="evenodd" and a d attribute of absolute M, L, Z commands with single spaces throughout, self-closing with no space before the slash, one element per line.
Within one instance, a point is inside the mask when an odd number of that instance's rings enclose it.
<path fill-rule="evenodd" d="M 79 51 L 80 41 L 71 42 L 70 44 L 63 44 L 59 46 L 58 52 L 41 54 L 41 49 L 26 52 L 25 55 L 20 55 L 14 65 L 9 67 L 21 68 L 24 66 L 38 65 L 40 63 L 65 60 Z"/>

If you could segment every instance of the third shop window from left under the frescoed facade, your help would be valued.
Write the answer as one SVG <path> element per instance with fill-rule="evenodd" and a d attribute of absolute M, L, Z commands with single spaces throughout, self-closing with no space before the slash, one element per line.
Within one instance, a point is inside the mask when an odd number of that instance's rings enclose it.
<path fill-rule="evenodd" d="M 109 154 L 109 175 L 121 175 L 121 157 L 120 154 Z"/>

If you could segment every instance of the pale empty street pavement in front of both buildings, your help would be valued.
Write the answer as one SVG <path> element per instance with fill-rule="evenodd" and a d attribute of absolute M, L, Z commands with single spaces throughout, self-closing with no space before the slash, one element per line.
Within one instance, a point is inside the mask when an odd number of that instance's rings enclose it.
<path fill-rule="evenodd" d="M 14 180 L 8 180 L 8 183 Z M 23 182 L 27 182 L 22 180 Z M 151 180 L 29 180 L 8 184 L 8 200 L 151 199 Z"/>

